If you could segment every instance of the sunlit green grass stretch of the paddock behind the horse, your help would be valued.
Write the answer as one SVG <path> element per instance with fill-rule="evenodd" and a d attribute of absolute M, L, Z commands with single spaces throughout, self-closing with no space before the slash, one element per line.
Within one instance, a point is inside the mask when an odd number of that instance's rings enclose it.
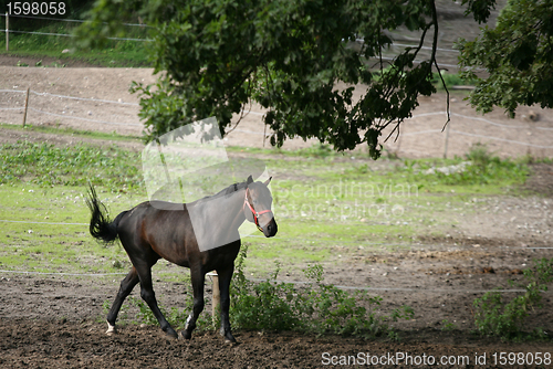
<path fill-rule="evenodd" d="M 106 247 L 87 233 L 85 186 L 94 183 L 113 217 L 145 201 L 140 156 L 119 148 L 119 136 L 103 139 L 112 144 L 0 146 L 0 268 L 126 271 L 129 264 L 121 245 Z M 273 239 L 243 239 L 249 246 L 246 265 L 255 276 L 264 276 L 274 262 L 283 265 L 282 272 L 313 262 L 340 264 L 341 254 L 355 255 L 359 246 L 405 247 L 420 235 L 444 235 L 441 230 L 455 225 L 459 214 L 478 211 L 477 199 L 518 193 L 528 173 L 524 160 L 500 160 L 481 147 L 467 158 L 379 161 L 358 152 L 352 159 L 351 154 L 324 147 L 228 149 L 230 156 L 240 150 L 262 157 L 274 176 L 279 233 Z M 467 167 L 461 173 L 432 170 L 462 162 Z M 164 277 L 175 273 L 181 272 L 164 266 Z"/>

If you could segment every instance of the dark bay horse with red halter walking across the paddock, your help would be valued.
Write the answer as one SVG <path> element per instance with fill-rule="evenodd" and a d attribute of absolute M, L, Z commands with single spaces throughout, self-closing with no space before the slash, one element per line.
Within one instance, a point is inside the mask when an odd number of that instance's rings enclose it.
<path fill-rule="evenodd" d="M 229 286 L 234 259 L 240 250 L 238 228 L 248 220 L 254 222 L 267 238 L 276 233 L 276 222 L 271 212 L 272 197 L 268 188 L 270 181 L 271 178 L 265 182 L 253 182 L 250 176 L 246 182 L 231 184 L 217 194 L 185 204 L 146 201 L 122 212 L 113 221 L 90 186 L 86 203 L 92 212 L 91 234 L 105 243 L 119 239 L 133 264 L 121 282 L 107 314 L 107 334 L 116 331 L 115 320 L 119 308 L 133 287 L 140 282 L 140 297 L 148 304 L 161 329 L 169 337 L 178 337 L 159 310 L 152 286 L 152 266 L 163 257 L 190 268 L 194 308 L 182 337 L 190 339 L 196 328 L 196 319 L 204 309 L 205 275 L 215 270 L 219 275 L 220 333 L 227 341 L 236 342 L 229 323 Z M 207 242 L 215 243 L 208 245 Z"/>

